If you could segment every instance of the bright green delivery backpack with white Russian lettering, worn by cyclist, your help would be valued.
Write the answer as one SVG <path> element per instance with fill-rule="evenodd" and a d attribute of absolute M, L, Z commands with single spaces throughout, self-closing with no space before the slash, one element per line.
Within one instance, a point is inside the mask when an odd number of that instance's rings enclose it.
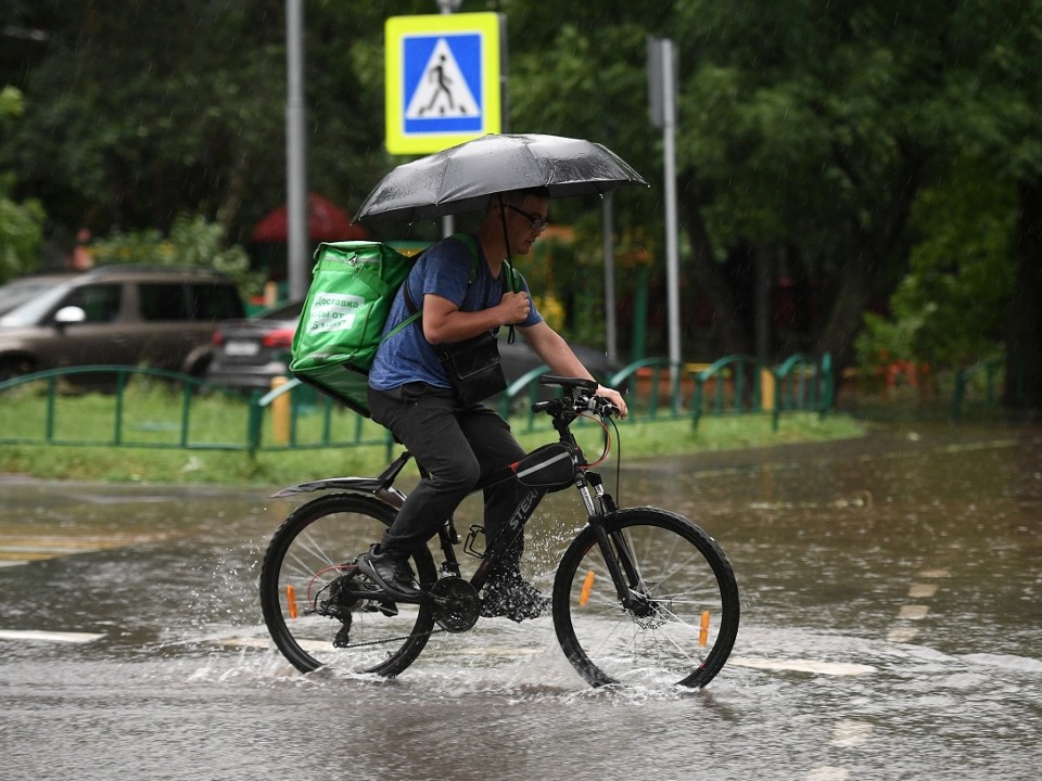
<path fill-rule="evenodd" d="M 473 282 L 478 271 L 474 240 L 466 233 L 454 238 L 471 251 Z M 382 242 L 348 241 L 319 244 L 315 261 L 293 334 L 290 371 L 368 418 L 369 369 L 383 341 L 391 304 L 416 258 Z M 387 336 L 419 318 L 420 312 L 415 312 Z"/>

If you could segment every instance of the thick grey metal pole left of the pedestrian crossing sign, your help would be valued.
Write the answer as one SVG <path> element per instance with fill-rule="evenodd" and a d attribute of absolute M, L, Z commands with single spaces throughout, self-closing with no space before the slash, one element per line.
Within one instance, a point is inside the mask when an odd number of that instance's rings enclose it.
<path fill-rule="evenodd" d="M 285 0 L 285 178 L 287 272 L 290 298 L 303 298 L 308 287 L 307 153 L 304 136 L 303 0 Z"/>

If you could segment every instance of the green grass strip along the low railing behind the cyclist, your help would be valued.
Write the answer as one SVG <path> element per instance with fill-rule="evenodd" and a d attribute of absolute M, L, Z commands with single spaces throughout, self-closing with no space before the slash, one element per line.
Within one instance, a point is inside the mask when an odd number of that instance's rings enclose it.
<path fill-rule="evenodd" d="M 314 400 L 314 397 L 310 397 Z M 251 456 L 246 443 L 247 406 L 221 393 L 186 397 L 168 383 L 136 377 L 122 401 L 116 427 L 117 398 L 111 394 L 77 393 L 65 388 L 55 396 L 50 437 L 46 444 L 48 399 L 42 387 L 20 387 L 0 395 L 0 474 L 37 478 L 142 483 L 212 483 L 282 486 L 339 475 L 368 475 L 387 463 L 383 428 L 342 408 L 327 413 L 319 404 L 297 418 L 298 444 L 360 443 L 314 449 L 267 450 Z M 542 420 L 542 419 L 541 419 Z M 555 437 L 551 431 L 529 433 L 528 421 L 514 421 L 519 439 L 534 448 Z M 708 450 L 787 443 L 822 441 L 861 436 L 863 427 L 842 414 L 824 419 L 813 413 L 783 415 L 779 431 L 766 414 L 702 418 L 695 431 L 690 420 L 619 423 L 624 462 Z M 602 448 L 601 430 L 581 422 L 574 426 L 587 458 Z M 272 444 L 270 418 L 262 443 Z M 116 446 L 112 443 L 120 443 Z M 180 447 L 181 440 L 194 447 Z M 225 449 L 218 449 L 224 447 Z M 619 444 L 613 453 L 620 451 Z M 392 452 L 396 448 L 392 447 Z"/>

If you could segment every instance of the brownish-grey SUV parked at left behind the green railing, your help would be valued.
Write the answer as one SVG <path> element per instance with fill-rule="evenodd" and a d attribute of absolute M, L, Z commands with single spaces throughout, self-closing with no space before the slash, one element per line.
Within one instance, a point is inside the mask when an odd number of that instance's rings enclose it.
<path fill-rule="evenodd" d="M 147 364 L 202 376 L 234 282 L 204 269 L 105 266 L 0 286 L 0 381 L 58 367 Z"/>

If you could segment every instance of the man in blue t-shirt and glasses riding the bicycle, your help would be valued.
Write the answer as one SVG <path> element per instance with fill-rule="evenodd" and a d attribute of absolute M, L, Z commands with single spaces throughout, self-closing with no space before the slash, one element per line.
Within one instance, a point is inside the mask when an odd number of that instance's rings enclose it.
<path fill-rule="evenodd" d="M 500 327 L 512 325 L 550 370 L 563 376 L 593 375 L 568 343 L 543 320 L 520 280 L 519 290 L 505 284 L 506 259 L 525 255 L 547 226 L 545 188 L 518 190 L 494 196 L 468 242 L 445 239 L 424 252 L 395 298 L 384 334 L 422 311 L 418 327 L 407 327 L 381 345 L 369 372 L 369 408 L 372 419 L 385 425 L 421 465 L 419 485 L 409 494 L 394 523 L 358 568 L 391 596 L 415 599 L 420 594 L 410 552 L 427 545 L 450 517 L 478 481 L 524 456 L 507 422 L 479 402 L 465 402 L 446 373 L 439 353 Z M 505 292 L 506 291 L 506 292 Z M 416 302 L 416 304 L 411 304 Z M 467 381 L 461 381 L 466 383 Z M 614 389 L 599 386 L 622 417 L 626 404 Z M 516 481 L 485 489 L 484 524 L 491 542 L 504 532 L 525 490 Z M 508 561 L 490 575 L 482 615 L 520 622 L 537 617 L 547 600 L 521 576 L 523 541 L 511 549 Z"/>

